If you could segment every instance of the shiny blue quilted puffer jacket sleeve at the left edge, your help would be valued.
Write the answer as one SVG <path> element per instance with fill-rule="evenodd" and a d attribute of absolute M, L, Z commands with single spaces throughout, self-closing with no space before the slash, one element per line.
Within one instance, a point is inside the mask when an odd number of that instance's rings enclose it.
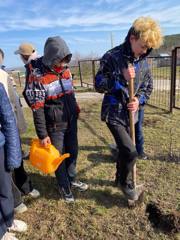
<path fill-rule="evenodd" d="M 0 119 L 1 131 L 5 136 L 6 165 L 8 170 L 13 170 L 18 168 L 22 161 L 20 137 L 11 104 L 2 84 L 0 84 Z"/>

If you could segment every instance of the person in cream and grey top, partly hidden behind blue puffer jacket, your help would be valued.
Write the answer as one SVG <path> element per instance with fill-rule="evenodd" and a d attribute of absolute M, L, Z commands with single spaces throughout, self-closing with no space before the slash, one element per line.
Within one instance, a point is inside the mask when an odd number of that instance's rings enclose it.
<path fill-rule="evenodd" d="M 2 49 L 0 49 L 0 56 L 0 64 L 2 64 L 4 60 L 4 52 Z M 12 80 L 10 79 L 8 73 L 2 69 L 0 69 L 0 82 L 3 84 L 12 105 L 19 134 L 22 134 L 26 131 L 27 128 L 22 110 L 22 105 L 20 103 L 19 96 L 12 85 Z M 21 161 L 21 165 L 18 168 L 14 169 L 13 180 L 14 181 L 12 181 L 12 186 L 15 212 L 22 213 L 27 210 L 27 207 L 23 203 L 21 196 L 29 195 L 32 198 L 37 198 L 40 196 L 40 193 L 33 187 L 32 182 L 24 169 L 23 160 Z"/>

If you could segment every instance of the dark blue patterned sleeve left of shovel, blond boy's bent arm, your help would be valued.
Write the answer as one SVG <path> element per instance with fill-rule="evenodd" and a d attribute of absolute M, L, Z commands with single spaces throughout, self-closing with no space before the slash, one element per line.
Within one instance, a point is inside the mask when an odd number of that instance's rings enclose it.
<path fill-rule="evenodd" d="M 100 93 L 116 93 L 125 90 L 125 80 L 120 72 L 122 63 L 118 63 L 111 54 L 106 53 L 101 61 L 99 70 L 95 76 L 95 89 Z"/>

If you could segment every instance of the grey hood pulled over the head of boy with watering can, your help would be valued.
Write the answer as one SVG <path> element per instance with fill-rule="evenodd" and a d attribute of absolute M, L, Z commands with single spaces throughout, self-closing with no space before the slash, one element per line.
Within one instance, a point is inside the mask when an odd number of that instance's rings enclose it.
<path fill-rule="evenodd" d="M 70 62 L 72 54 L 66 42 L 59 36 L 49 37 L 44 45 L 43 64 L 52 67 L 54 61 L 61 61 L 65 57 L 68 57 Z"/>

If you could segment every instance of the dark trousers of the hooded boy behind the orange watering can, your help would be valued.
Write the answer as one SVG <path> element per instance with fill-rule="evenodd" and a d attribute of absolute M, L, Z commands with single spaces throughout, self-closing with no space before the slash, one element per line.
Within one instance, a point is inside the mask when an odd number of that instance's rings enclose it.
<path fill-rule="evenodd" d="M 76 159 L 78 156 L 77 118 L 71 120 L 67 129 L 49 128 L 48 134 L 52 144 L 61 154 L 70 153 L 70 157 L 65 159 L 55 172 L 58 185 L 69 188 L 70 182 L 76 176 Z"/>

